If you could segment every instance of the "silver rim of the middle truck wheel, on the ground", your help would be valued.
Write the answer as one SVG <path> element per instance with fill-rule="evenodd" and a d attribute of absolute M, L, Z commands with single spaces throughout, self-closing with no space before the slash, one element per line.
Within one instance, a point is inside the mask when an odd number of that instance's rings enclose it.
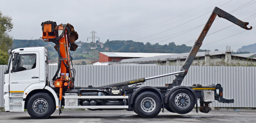
<path fill-rule="evenodd" d="M 150 98 L 150 97 L 146 97 L 141 101 L 141 109 L 144 112 L 152 112 L 154 111 L 156 106 L 156 102 L 154 101 L 154 99 Z"/>

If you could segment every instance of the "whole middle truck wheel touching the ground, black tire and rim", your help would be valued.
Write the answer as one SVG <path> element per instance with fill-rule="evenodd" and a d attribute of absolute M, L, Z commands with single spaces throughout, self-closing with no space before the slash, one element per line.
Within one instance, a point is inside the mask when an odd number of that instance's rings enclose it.
<path fill-rule="evenodd" d="M 137 96 L 134 112 L 144 118 L 153 118 L 161 111 L 161 99 L 156 93 L 146 91 Z"/>

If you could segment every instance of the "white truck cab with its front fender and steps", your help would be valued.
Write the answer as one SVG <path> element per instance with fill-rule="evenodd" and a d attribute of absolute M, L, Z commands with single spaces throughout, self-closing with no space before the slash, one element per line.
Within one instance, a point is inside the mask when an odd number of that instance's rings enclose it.
<path fill-rule="evenodd" d="M 23 112 L 27 96 L 40 91 L 51 94 L 58 104 L 56 92 L 48 79 L 48 50 L 46 47 L 29 47 L 9 50 L 5 70 L 5 111 Z M 41 63 L 44 62 L 44 63 Z M 56 106 L 55 106 L 56 107 Z"/>

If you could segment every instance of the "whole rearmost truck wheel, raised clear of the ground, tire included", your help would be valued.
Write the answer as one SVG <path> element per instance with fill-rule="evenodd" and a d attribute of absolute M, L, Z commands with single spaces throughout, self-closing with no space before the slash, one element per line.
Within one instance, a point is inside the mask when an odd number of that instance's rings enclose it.
<path fill-rule="evenodd" d="M 186 114 L 195 107 L 193 94 L 186 89 L 178 89 L 171 93 L 169 97 L 169 106 L 172 111 L 178 114 Z"/>

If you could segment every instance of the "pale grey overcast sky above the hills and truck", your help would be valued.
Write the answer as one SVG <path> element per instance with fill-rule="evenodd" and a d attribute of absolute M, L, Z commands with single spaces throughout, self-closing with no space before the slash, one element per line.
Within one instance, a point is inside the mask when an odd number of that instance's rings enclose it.
<path fill-rule="evenodd" d="M 217 19 L 208 32 L 211 35 L 206 36 L 200 49 L 226 50 L 229 45 L 236 51 L 242 46 L 256 43 L 255 0 L 0 1 L 0 11 L 12 18 L 14 26 L 10 34 L 14 39 L 40 38 L 41 23 L 50 20 L 57 24 L 72 24 L 79 34 L 77 41 L 82 42 L 87 42 L 90 32 L 96 31 L 95 36 L 100 38 L 100 42 L 106 42 L 107 39 L 133 40 L 144 44 L 175 42 L 176 45 L 193 46 L 204 27 L 200 25 L 206 23 L 217 6 L 232 12 L 230 14 L 240 20 L 246 18 L 244 21 L 249 22 L 248 27 L 253 26 L 253 29 L 245 31 L 235 25 L 214 33 L 232 25 L 226 19 Z M 91 42 L 91 38 L 88 42 Z"/>

